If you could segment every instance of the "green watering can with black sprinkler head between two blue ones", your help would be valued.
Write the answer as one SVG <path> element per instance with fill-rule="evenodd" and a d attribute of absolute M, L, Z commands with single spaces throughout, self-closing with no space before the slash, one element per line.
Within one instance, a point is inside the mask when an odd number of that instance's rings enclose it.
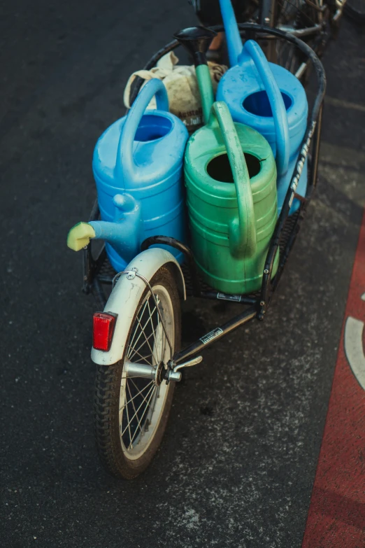
<path fill-rule="evenodd" d="M 194 57 L 204 127 L 187 142 L 185 185 L 192 251 L 201 276 L 222 293 L 258 290 L 278 218 L 276 166 L 268 141 L 213 103 L 205 53 L 215 32 L 192 27 L 175 38 Z M 273 276 L 278 269 L 275 257 Z"/>

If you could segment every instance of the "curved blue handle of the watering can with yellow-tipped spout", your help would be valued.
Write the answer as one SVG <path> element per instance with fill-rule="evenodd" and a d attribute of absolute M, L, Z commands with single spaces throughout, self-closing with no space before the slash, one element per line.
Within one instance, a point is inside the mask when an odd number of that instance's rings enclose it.
<path fill-rule="evenodd" d="M 152 78 L 138 93 L 134 104 L 132 104 L 127 120 L 124 122 L 117 148 L 117 161 L 115 162 L 115 176 L 122 181 L 134 178 L 137 166 L 134 163 L 133 143 L 134 137 L 141 122 L 145 109 L 151 99 L 156 96 L 157 109 L 169 112 L 169 99 L 166 87 L 158 78 Z"/>

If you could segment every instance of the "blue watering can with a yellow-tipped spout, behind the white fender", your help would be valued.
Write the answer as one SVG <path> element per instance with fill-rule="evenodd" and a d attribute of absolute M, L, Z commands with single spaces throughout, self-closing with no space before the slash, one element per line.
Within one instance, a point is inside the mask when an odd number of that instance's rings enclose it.
<path fill-rule="evenodd" d="M 157 110 L 145 113 L 154 96 Z M 145 238 L 162 235 L 184 241 L 187 139 L 183 122 L 169 113 L 164 84 L 157 78 L 148 81 L 127 116 L 110 125 L 96 143 L 92 169 L 101 221 L 79 223 L 69 241 L 81 241 L 85 224 L 90 225 L 93 230 L 86 232 L 106 240 L 108 258 L 118 272 L 139 253 Z M 182 253 L 164 247 L 183 262 Z"/>

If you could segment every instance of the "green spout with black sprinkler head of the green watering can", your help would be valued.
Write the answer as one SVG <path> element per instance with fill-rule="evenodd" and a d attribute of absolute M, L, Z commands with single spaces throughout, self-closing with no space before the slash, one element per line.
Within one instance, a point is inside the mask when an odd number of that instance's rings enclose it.
<path fill-rule="evenodd" d="M 214 102 L 213 86 L 206 62 L 206 52 L 214 36 L 217 36 L 217 33 L 205 27 L 189 27 L 173 35 L 194 59 L 205 124 L 208 123 L 210 109 Z"/>

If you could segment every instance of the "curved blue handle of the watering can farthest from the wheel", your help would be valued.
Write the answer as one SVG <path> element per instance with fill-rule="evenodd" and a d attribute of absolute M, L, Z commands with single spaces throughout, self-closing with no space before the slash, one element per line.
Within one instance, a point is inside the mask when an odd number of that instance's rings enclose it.
<path fill-rule="evenodd" d="M 275 125 L 276 166 L 278 168 L 278 176 L 281 176 L 287 172 L 289 165 L 289 127 L 287 125 L 287 110 L 269 62 L 259 44 L 254 40 L 248 40 L 245 42 L 244 49 L 248 52 L 248 55 L 250 55 L 254 62 L 269 97 Z"/>

